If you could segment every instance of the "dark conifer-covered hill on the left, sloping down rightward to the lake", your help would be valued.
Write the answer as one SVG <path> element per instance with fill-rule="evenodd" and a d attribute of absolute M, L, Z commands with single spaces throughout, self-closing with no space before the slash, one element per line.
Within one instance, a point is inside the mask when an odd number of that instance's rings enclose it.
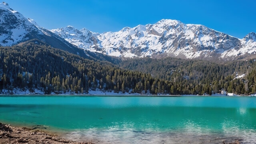
<path fill-rule="evenodd" d="M 154 79 L 122 70 L 110 62 L 95 62 L 47 45 L 29 43 L 0 48 L 0 89 L 43 88 L 46 94 L 96 88 L 127 92 Z"/>

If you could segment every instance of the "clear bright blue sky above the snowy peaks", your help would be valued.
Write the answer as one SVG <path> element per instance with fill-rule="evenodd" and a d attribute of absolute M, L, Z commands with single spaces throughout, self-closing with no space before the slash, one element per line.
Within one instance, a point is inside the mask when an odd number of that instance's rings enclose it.
<path fill-rule="evenodd" d="M 4 1 L 47 29 L 70 25 L 92 32 L 115 32 L 125 26 L 172 19 L 185 24 L 203 24 L 238 38 L 256 32 L 256 0 Z"/>

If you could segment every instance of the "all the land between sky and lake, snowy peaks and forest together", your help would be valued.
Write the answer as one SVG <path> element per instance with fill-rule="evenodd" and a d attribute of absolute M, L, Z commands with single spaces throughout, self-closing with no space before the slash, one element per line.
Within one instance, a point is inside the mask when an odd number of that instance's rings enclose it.
<path fill-rule="evenodd" d="M 0 4 L 0 93 L 256 93 L 256 34 L 160 20 L 118 32 L 47 30 Z M 20 92 L 20 93 L 19 93 Z"/>

